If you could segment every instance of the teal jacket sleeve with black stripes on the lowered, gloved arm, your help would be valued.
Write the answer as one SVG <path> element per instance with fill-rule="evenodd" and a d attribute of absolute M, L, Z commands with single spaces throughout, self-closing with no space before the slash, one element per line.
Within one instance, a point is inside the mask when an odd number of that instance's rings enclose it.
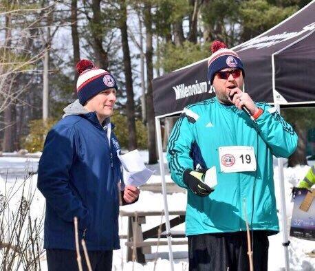
<path fill-rule="evenodd" d="M 181 187 L 188 188 L 183 182 L 183 173 L 186 169 L 193 169 L 193 159 L 190 156 L 191 144 L 194 142 L 192 131 L 196 120 L 186 113 L 182 113 L 177 120 L 167 146 L 167 161 L 173 181 Z"/>

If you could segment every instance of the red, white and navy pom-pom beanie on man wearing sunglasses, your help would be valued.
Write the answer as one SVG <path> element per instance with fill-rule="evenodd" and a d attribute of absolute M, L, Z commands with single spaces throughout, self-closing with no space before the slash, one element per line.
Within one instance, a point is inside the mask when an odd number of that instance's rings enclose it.
<path fill-rule="evenodd" d="M 208 80 L 213 84 L 215 74 L 221 69 L 237 68 L 241 69 L 243 77 L 245 77 L 243 63 L 239 55 L 226 47 L 221 41 L 213 41 L 211 45 L 212 55 L 208 59 Z"/>

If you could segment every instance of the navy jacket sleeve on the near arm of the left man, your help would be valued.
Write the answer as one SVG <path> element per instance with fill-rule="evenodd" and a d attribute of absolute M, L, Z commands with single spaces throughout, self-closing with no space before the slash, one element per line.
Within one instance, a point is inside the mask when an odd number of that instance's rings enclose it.
<path fill-rule="evenodd" d="M 63 220 L 72 222 L 78 217 L 78 228 L 89 226 L 89 213 L 78 195 L 69 186 L 69 170 L 76 159 L 74 129 L 54 127 L 45 140 L 43 154 L 39 160 L 37 187 Z"/>

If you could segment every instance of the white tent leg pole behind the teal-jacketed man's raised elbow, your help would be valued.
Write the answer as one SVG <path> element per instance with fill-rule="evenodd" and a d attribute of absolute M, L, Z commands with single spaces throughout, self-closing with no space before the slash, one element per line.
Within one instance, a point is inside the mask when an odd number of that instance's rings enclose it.
<path fill-rule="evenodd" d="M 280 105 L 275 105 L 276 110 L 280 113 Z M 289 261 L 289 243 L 287 237 L 287 209 L 285 207 L 285 189 L 284 189 L 284 175 L 283 175 L 283 158 L 278 158 L 279 169 L 279 185 L 280 185 L 280 197 L 281 197 L 281 214 L 282 214 L 282 235 L 283 235 L 283 249 L 285 254 L 285 270 L 290 270 Z"/>

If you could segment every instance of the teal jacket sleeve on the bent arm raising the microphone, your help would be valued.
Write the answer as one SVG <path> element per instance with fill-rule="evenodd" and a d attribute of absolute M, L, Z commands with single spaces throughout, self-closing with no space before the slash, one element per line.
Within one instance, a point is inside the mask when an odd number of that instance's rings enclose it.
<path fill-rule="evenodd" d="M 285 122 L 274 107 L 265 105 L 257 118 L 259 134 L 277 158 L 289 157 L 296 150 L 298 137 L 292 126 Z"/>

